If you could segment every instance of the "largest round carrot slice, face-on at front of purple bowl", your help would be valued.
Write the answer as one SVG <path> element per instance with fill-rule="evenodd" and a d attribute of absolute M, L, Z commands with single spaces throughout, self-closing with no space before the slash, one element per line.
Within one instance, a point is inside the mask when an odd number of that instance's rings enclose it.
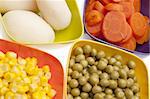
<path fill-rule="evenodd" d="M 122 41 L 127 34 L 125 34 L 126 19 L 122 12 L 110 11 L 106 14 L 103 21 L 104 37 L 112 42 Z"/>

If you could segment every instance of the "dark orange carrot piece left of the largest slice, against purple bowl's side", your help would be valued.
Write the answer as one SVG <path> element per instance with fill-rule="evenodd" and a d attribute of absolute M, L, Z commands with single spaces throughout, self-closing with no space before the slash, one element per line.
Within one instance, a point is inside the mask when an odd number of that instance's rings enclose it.
<path fill-rule="evenodd" d="M 100 35 L 100 31 L 101 31 L 101 25 L 102 23 L 98 23 L 94 26 L 89 26 L 88 24 L 86 24 L 86 29 L 88 30 L 88 32 L 90 34 L 92 34 L 93 36 L 99 36 Z"/>

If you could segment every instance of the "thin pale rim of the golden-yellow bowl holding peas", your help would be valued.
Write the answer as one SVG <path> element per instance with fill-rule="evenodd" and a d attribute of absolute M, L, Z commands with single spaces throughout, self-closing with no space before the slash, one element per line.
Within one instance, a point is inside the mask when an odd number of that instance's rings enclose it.
<path fill-rule="evenodd" d="M 104 44 L 104 43 L 101 43 L 101 42 L 97 42 L 97 41 L 93 41 L 93 40 L 78 40 L 78 41 L 76 41 L 76 42 L 74 42 L 73 43 L 73 45 L 71 46 L 71 48 L 70 48 L 70 50 L 69 50 L 69 54 L 68 54 L 68 58 L 67 58 L 67 66 L 66 66 L 66 75 L 65 75 L 65 79 L 64 79 L 64 81 L 65 81 L 65 94 L 66 94 L 66 96 L 65 97 L 67 97 L 67 75 L 68 75 L 68 68 L 69 68 L 69 60 L 70 60 L 70 57 L 71 57 L 71 53 L 72 53 L 72 51 L 73 51 L 73 48 L 74 48 L 74 46 L 77 44 L 77 43 L 81 43 L 81 42 L 89 42 L 89 43 L 93 43 L 93 44 L 96 44 L 96 45 L 101 45 L 101 46 L 105 46 L 105 47 L 108 47 L 108 48 L 111 48 L 111 49 L 113 49 L 113 50 L 117 50 L 117 51 L 120 51 L 120 52 L 123 52 L 123 53 L 125 53 L 125 54 L 128 54 L 128 55 L 130 55 L 130 56 L 132 56 L 132 57 L 135 57 L 135 58 L 137 58 L 139 61 L 141 61 L 143 64 L 144 64 L 144 67 L 146 68 L 146 74 L 147 74 L 147 86 L 148 86 L 148 98 L 149 98 L 149 96 L 150 96 L 150 77 L 149 77 L 149 75 L 150 75 L 150 73 L 148 72 L 148 68 L 147 68 L 147 66 L 146 66 L 146 64 L 142 61 L 142 59 L 141 58 L 139 58 L 138 56 L 136 56 L 135 54 L 133 54 L 133 53 L 130 53 L 130 52 L 128 52 L 128 51 L 125 51 L 125 50 L 123 50 L 123 49 L 120 49 L 120 48 L 117 48 L 117 47 L 114 47 L 114 46 L 110 46 L 110 45 L 106 45 L 106 44 Z M 67 99 L 67 98 L 66 98 Z"/>

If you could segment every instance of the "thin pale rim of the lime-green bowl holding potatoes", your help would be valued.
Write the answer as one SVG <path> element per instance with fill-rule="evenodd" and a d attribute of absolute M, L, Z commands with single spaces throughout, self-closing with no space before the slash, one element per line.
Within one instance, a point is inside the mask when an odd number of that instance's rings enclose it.
<path fill-rule="evenodd" d="M 73 2 L 75 3 L 75 6 L 77 8 L 76 12 L 78 12 L 78 14 L 79 14 L 79 21 L 80 21 L 80 24 L 81 24 L 81 33 L 80 33 L 79 37 L 77 37 L 75 39 L 72 39 L 72 40 L 57 41 L 57 42 L 55 42 L 55 40 L 54 40 L 53 42 L 43 42 L 43 43 L 22 42 L 20 40 L 17 40 L 15 37 L 11 36 L 10 33 L 7 31 L 6 25 L 4 24 L 4 21 L 3 21 L 3 18 L 2 18 L 2 13 L 0 13 L 0 22 L 2 24 L 2 27 L 4 29 L 5 34 L 7 34 L 9 39 L 11 39 L 12 41 L 21 43 L 21 44 L 27 44 L 27 45 L 41 45 L 41 44 L 44 44 L 44 45 L 47 45 L 47 44 L 66 44 L 66 43 L 71 43 L 71 42 L 74 42 L 76 40 L 81 39 L 83 37 L 83 35 L 84 35 L 84 24 L 83 24 L 83 21 L 82 21 L 82 16 L 81 16 L 80 11 L 79 11 L 79 6 L 77 5 L 77 1 L 76 0 L 74 0 Z M 31 11 L 31 12 L 33 12 L 33 11 Z M 37 11 L 35 11 L 35 12 L 37 12 Z"/>

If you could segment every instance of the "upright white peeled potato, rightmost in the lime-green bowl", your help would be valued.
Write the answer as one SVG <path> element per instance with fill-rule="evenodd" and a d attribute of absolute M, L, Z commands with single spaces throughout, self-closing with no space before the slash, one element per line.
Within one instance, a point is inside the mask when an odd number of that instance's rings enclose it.
<path fill-rule="evenodd" d="M 65 0 L 36 1 L 42 16 L 55 30 L 69 26 L 72 15 Z"/>

